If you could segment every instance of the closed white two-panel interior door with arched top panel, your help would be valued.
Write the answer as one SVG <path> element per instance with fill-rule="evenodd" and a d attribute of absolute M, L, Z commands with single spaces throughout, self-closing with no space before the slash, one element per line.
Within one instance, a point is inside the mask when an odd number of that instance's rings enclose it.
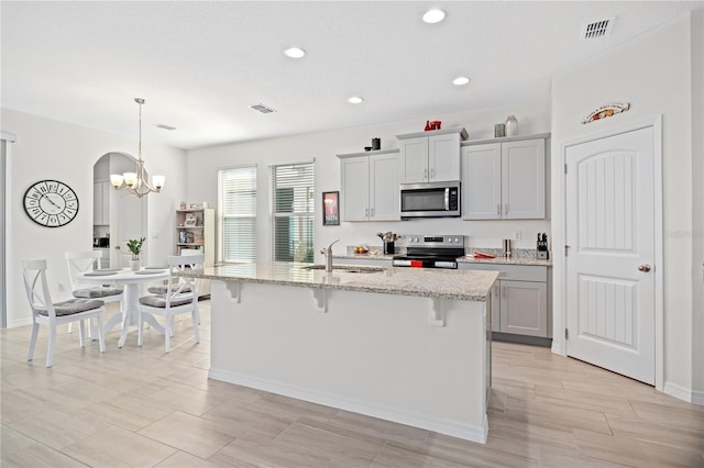
<path fill-rule="evenodd" d="M 653 127 L 566 148 L 566 353 L 654 383 Z"/>

